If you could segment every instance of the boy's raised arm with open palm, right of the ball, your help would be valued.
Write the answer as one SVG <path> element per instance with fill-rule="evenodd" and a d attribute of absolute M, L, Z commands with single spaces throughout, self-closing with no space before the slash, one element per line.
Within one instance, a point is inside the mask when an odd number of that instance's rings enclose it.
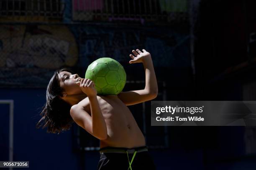
<path fill-rule="evenodd" d="M 137 52 L 136 52 L 137 51 Z M 129 63 L 142 62 L 145 70 L 145 88 L 143 90 L 133 90 L 127 92 L 120 92 L 118 97 L 122 100 L 125 105 L 135 105 L 141 102 L 145 102 L 148 100 L 152 100 L 156 98 L 158 94 L 158 86 L 156 81 L 156 75 L 154 71 L 153 62 L 151 59 L 151 55 L 146 50 L 133 50 L 133 55 L 130 57 L 133 59 Z"/>

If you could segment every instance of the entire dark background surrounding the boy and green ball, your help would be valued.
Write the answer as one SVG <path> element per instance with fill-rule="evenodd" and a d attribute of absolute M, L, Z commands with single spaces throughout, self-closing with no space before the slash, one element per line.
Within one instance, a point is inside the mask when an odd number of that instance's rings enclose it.
<path fill-rule="evenodd" d="M 127 74 L 124 91 L 138 90 L 143 65 L 129 65 L 128 55 L 145 48 L 159 85 L 154 100 L 256 99 L 254 0 L 0 2 L 0 100 L 14 101 L 13 160 L 30 169 L 97 167 L 99 141 L 77 125 L 59 135 L 36 129 L 61 67 L 82 76 L 92 61 L 113 57 Z M 129 109 L 158 170 L 256 169 L 255 126 L 151 126 L 150 105 Z M 8 160 L 9 107 L 0 110 L 0 160 Z"/>

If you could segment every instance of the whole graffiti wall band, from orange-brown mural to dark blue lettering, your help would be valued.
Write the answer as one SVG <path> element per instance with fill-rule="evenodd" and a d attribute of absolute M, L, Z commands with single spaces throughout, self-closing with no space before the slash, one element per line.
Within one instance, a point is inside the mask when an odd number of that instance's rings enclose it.
<path fill-rule="evenodd" d="M 125 66 L 136 48 L 151 52 L 156 69 L 190 67 L 188 32 L 170 28 L 4 25 L 0 32 L 2 87 L 46 87 L 54 70 L 86 70 L 100 57 L 112 57 Z"/>

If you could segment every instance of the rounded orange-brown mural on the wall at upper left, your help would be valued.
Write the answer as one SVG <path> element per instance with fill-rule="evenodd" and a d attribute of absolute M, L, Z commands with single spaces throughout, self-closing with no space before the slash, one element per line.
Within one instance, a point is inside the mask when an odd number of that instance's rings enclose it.
<path fill-rule="evenodd" d="M 77 63 L 77 45 L 66 26 L 3 25 L 0 32 L 2 85 L 45 85 L 53 70 Z"/>

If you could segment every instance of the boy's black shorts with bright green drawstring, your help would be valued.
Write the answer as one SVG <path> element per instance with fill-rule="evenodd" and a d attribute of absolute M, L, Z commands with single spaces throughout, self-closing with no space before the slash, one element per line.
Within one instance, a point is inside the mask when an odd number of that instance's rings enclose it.
<path fill-rule="evenodd" d="M 111 150 L 141 150 L 147 148 L 116 148 L 116 147 L 105 147 L 104 149 Z M 97 170 L 156 170 L 154 162 L 149 155 L 148 151 L 134 152 L 134 153 L 103 153 L 100 154 L 100 160 L 98 163 Z M 133 158 L 133 159 L 132 159 Z M 131 166 L 130 166 L 131 165 Z"/>

